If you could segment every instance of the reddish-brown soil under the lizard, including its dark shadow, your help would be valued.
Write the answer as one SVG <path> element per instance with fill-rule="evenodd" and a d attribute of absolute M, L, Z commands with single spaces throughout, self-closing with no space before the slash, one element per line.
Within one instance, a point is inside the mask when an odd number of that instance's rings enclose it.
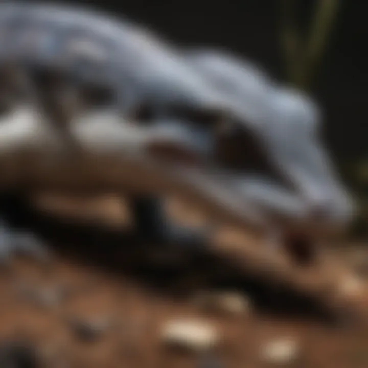
<path fill-rule="evenodd" d="M 259 359 L 260 348 L 283 337 L 295 338 L 301 347 L 300 361 L 292 366 L 368 366 L 368 334 L 329 324 L 328 316 L 303 297 L 267 286 L 249 277 L 246 269 L 211 253 L 169 252 L 117 235 L 114 229 L 126 223 L 126 212 L 116 201 L 39 203 L 89 222 L 82 229 L 42 221 L 37 226 L 55 254 L 51 268 L 17 259 L 0 277 L 0 338 L 21 336 L 41 351 L 55 351 L 50 353 L 53 363 L 45 366 L 65 361 L 70 364 L 65 366 L 86 368 L 207 367 L 201 365 L 202 357 L 172 351 L 159 340 L 165 320 L 182 315 L 210 320 L 218 327 L 222 344 L 214 354 L 224 367 L 268 366 Z M 190 212 L 176 208 L 176 213 Z M 202 221 L 193 214 L 176 217 Z M 102 223 L 112 230 L 98 227 Z M 55 307 L 35 305 L 16 287 L 59 284 L 70 292 Z M 192 296 L 210 287 L 240 290 L 249 295 L 254 308 L 240 316 L 204 313 Z M 83 341 L 68 322 L 71 317 L 105 316 L 112 318 L 112 327 L 95 341 Z"/>

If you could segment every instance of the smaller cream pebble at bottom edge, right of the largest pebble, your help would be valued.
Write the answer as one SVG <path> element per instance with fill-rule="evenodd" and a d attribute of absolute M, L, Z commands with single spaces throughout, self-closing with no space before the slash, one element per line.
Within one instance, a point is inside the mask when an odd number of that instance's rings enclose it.
<path fill-rule="evenodd" d="M 298 343 L 292 338 L 268 342 L 261 349 L 261 359 L 276 365 L 291 364 L 298 358 L 299 354 Z"/>

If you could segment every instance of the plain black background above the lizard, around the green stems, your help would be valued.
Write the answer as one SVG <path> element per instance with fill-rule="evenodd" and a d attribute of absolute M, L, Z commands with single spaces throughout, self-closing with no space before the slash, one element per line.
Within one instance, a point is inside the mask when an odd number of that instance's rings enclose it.
<path fill-rule="evenodd" d="M 284 79 L 281 0 L 79 1 L 149 25 L 179 44 L 211 44 L 259 62 Z M 299 0 L 301 30 L 315 1 Z M 368 155 L 368 6 L 340 0 L 339 13 L 313 94 L 324 108 L 325 136 L 340 163 Z"/>

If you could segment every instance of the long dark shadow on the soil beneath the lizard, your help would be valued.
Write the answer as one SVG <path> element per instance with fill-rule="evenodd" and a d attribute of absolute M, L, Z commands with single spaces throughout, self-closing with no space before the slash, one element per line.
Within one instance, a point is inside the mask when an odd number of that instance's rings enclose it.
<path fill-rule="evenodd" d="M 329 325 L 336 321 L 336 316 L 314 298 L 255 277 L 236 260 L 220 257 L 211 249 L 148 244 L 126 232 L 77 224 L 30 208 L 21 211 L 57 254 L 117 277 L 132 278 L 150 292 L 185 298 L 208 288 L 236 289 L 246 292 L 260 313 Z"/>

